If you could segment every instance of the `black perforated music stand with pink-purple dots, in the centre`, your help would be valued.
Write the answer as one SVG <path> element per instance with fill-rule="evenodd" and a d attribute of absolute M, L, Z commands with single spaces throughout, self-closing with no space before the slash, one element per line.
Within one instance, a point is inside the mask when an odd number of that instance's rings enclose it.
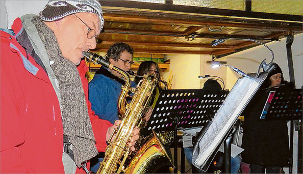
<path fill-rule="evenodd" d="M 145 132 L 174 131 L 174 173 L 178 173 L 178 128 L 205 126 L 220 108 L 226 91 L 163 90 Z"/>

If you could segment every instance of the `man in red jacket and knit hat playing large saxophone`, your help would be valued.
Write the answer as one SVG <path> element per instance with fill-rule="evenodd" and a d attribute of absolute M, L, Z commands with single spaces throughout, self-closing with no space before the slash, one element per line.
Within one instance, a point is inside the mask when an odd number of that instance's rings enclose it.
<path fill-rule="evenodd" d="M 53 0 L 1 31 L 2 173 L 84 173 L 105 150 L 120 121 L 94 115 L 82 60 L 103 24 L 98 1 Z"/>

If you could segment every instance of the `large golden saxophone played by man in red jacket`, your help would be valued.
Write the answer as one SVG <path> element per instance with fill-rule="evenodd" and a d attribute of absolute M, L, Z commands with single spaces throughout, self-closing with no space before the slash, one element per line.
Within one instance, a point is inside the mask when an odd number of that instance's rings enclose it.
<path fill-rule="evenodd" d="M 143 144 L 131 161 L 128 160 L 132 153 L 128 142 L 132 138 L 133 129 L 142 123 L 141 115 L 159 79 L 154 74 L 144 75 L 137 88 L 132 89 L 130 76 L 126 72 L 111 65 L 95 53 L 83 52 L 83 54 L 89 61 L 118 72 L 125 80 L 118 100 L 118 110 L 122 115 L 121 124 L 110 137 L 111 140 L 116 134 L 112 142 L 108 142 L 109 146 L 105 150 L 104 160 L 100 162 L 97 173 L 155 173 L 161 167 L 173 167 L 154 131 L 154 136 Z M 130 91 L 135 94 L 131 103 L 128 104 L 125 97 L 130 97 L 128 95 Z"/>

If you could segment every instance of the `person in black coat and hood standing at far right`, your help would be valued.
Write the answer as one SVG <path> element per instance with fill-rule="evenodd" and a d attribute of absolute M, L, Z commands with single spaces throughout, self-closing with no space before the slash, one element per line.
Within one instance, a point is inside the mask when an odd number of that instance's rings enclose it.
<path fill-rule="evenodd" d="M 250 164 L 250 173 L 279 173 L 288 167 L 289 145 L 287 121 L 260 121 L 269 92 L 285 85 L 279 65 L 269 72 L 259 91 L 248 103 L 244 115 L 242 161 Z"/>

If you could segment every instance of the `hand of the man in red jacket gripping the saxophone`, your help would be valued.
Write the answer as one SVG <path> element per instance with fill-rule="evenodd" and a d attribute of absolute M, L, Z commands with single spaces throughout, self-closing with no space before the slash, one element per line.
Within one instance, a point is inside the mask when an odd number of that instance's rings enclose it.
<path fill-rule="evenodd" d="M 109 140 L 111 134 L 114 132 L 114 130 L 121 124 L 121 121 L 120 120 L 116 120 L 114 125 L 109 127 L 108 130 L 107 130 L 107 133 L 106 133 L 106 141 Z M 133 129 L 133 133 L 132 133 L 132 138 L 131 138 L 131 141 L 128 143 L 128 145 L 131 147 L 131 150 L 134 151 L 135 150 L 135 147 L 134 145 L 136 144 L 136 140 L 139 139 L 139 131 L 140 129 L 138 127 L 135 127 Z M 111 139 L 111 141 L 113 140 L 113 138 L 115 137 L 116 135 L 114 135 Z"/>

